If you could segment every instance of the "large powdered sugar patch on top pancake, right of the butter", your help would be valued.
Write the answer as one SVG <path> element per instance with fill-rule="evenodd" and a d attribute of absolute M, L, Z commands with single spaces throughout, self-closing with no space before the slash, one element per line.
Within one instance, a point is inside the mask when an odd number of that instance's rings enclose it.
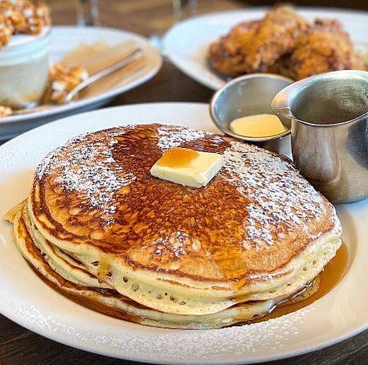
<path fill-rule="evenodd" d="M 324 213 L 321 195 L 291 163 L 268 151 L 231 142 L 224 151 L 224 168 L 229 181 L 249 198 L 244 222 L 249 243 L 271 245 L 281 238 L 280 224 L 307 230 Z"/>

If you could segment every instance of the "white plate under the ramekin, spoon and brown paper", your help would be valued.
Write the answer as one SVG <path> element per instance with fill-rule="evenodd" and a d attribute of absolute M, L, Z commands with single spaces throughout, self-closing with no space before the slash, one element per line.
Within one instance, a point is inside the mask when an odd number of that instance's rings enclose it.
<path fill-rule="evenodd" d="M 134 77 L 129 77 L 125 83 L 121 83 L 117 88 L 114 88 L 106 93 L 101 93 L 93 98 L 83 99 L 68 105 L 61 105 L 57 108 L 52 108 L 43 112 L 35 112 L 28 115 L 18 115 L 13 117 L 0 119 L 0 141 L 10 139 L 16 135 L 40 126 L 51 120 L 57 120 L 60 117 L 74 114 L 76 112 L 95 109 L 109 102 L 114 96 L 124 93 L 125 91 L 135 88 L 141 83 L 151 79 L 162 64 L 162 57 L 158 50 L 152 47 L 141 35 L 125 32 L 124 30 L 112 28 L 76 28 L 73 26 L 53 26 L 52 27 L 52 42 L 50 49 L 50 62 L 56 62 L 61 59 L 66 53 L 73 50 L 81 43 L 106 42 L 109 45 L 116 45 L 127 40 L 133 40 L 140 45 L 143 53 L 150 60 L 146 66 L 134 74 Z"/>

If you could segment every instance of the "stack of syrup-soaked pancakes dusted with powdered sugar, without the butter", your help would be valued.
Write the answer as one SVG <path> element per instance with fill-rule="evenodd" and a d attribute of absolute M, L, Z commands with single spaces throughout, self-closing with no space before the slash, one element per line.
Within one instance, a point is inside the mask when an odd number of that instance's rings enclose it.
<path fill-rule="evenodd" d="M 222 153 L 206 187 L 150 168 L 176 147 Z M 285 156 L 160 124 L 85 134 L 37 167 L 6 218 L 32 267 L 78 303 L 168 328 L 220 328 L 305 298 L 340 247 L 335 209 Z"/>

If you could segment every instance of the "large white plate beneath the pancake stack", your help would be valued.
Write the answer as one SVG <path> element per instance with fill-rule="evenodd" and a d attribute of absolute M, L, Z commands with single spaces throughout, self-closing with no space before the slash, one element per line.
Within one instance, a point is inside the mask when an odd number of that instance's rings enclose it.
<path fill-rule="evenodd" d="M 0 216 L 28 195 L 40 159 L 66 139 L 128 123 L 162 122 L 215 130 L 208 105 L 155 103 L 107 108 L 33 129 L 0 146 Z M 109 318 L 44 284 L 0 220 L 0 312 L 25 328 L 73 347 L 158 363 L 245 363 L 290 357 L 368 328 L 368 202 L 338 207 L 350 268 L 322 299 L 263 323 L 221 330 L 169 330 Z"/>

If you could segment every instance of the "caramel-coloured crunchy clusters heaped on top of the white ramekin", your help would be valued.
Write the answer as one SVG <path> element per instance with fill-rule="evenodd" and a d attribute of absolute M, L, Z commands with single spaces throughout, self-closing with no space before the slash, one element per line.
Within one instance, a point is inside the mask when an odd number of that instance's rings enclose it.
<path fill-rule="evenodd" d="M 51 23 L 46 4 L 28 0 L 0 0 L 0 48 L 14 34 L 39 34 Z"/>

